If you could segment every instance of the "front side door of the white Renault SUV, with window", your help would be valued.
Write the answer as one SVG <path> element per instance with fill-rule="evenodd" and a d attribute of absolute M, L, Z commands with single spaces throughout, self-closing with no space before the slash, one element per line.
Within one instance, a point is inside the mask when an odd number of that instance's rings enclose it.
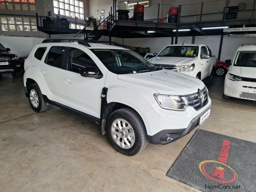
<path fill-rule="evenodd" d="M 68 107 L 100 118 L 101 92 L 106 76 L 83 77 L 79 73 L 80 69 L 85 67 L 95 67 L 99 70 L 91 59 L 93 56 L 95 57 L 89 49 L 85 53 L 70 47 L 67 70 L 63 73 L 63 88 Z"/>

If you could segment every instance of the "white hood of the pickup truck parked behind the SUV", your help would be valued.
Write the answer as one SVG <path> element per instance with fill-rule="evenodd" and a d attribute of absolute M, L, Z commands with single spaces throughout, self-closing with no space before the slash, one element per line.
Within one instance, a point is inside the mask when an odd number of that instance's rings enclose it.
<path fill-rule="evenodd" d="M 196 58 L 186 58 L 186 57 L 154 57 L 149 62 L 153 64 L 163 64 L 163 65 L 190 65 L 197 61 Z"/>

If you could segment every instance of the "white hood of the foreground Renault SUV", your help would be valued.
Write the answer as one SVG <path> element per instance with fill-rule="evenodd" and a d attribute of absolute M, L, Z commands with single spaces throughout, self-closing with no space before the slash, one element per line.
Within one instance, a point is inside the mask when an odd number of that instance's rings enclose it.
<path fill-rule="evenodd" d="M 166 95 L 187 95 L 204 88 L 201 80 L 167 69 L 118 75 L 118 79 L 149 87 Z"/>

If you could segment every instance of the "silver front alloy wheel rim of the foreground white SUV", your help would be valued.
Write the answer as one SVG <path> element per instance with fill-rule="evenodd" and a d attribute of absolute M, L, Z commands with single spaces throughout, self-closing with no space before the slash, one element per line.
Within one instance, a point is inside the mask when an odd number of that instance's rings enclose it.
<path fill-rule="evenodd" d="M 135 142 L 135 134 L 131 124 L 125 119 L 116 119 L 111 126 L 111 135 L 118 146 L 129 149 Z"/>

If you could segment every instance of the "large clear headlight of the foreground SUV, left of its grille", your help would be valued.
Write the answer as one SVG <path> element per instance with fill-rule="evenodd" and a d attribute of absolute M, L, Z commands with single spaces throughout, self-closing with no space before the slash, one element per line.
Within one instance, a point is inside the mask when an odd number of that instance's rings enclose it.
<path fill-rule="evenodd" d="M 161 108 L 183 111 L 188 106 L 188 100 L 182 96 L 154 94 Z"/>

